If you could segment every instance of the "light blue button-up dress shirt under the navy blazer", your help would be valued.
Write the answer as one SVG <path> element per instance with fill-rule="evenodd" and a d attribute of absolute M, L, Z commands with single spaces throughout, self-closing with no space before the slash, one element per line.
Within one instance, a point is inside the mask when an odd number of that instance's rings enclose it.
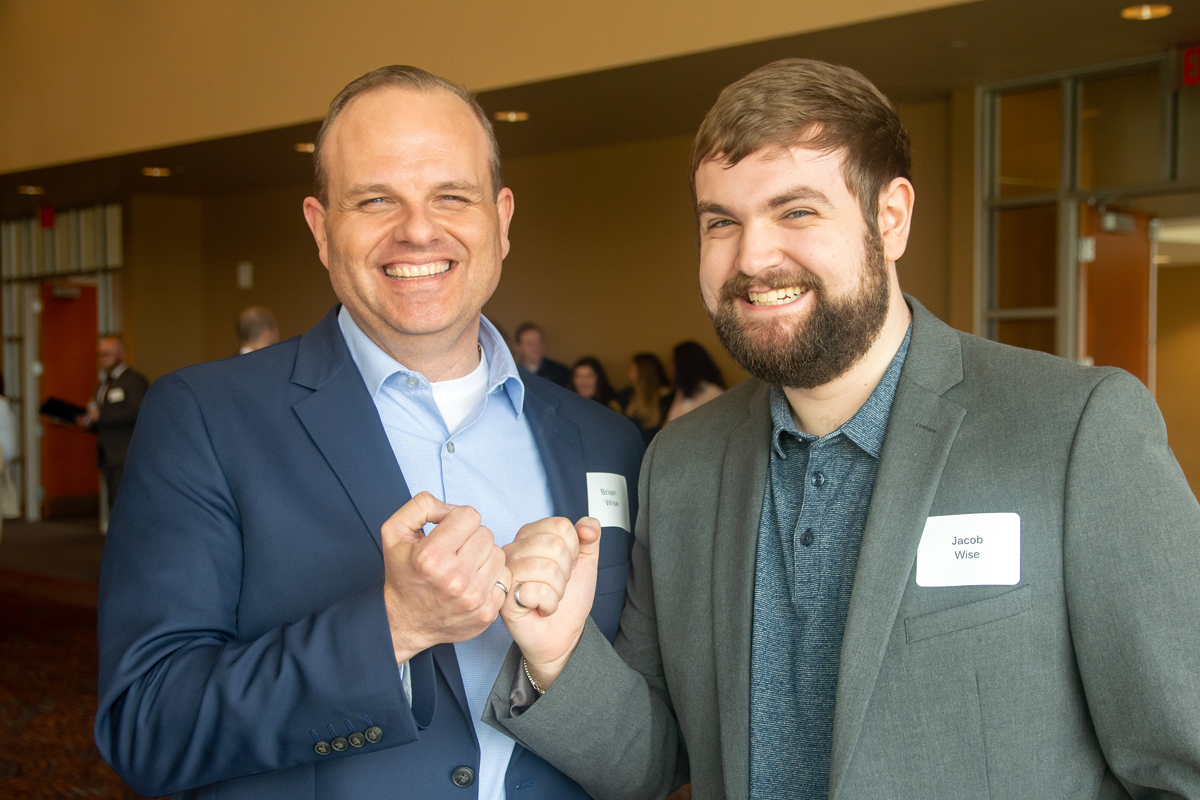
<path fill-rule="evenodd" d="M 354 324 L 344 306 L 337 324 L 374 399 L 409 492 L 428 492 L 444 503 L 473 506 L 502 547 L 522 525 L 553 516 L 546 471 L 522 413 L 524 384 L 504 339 L 487 319 L 480 318 L 479 326 L 479 344 L 488 363 L 487 392 L 454 434 L 425 375 L 384 353 Z M 512 740 L 480 717 L 511 644 L 512 637 L 499 619 L 474 639 L 455 644 L 479 740 L 480 800 L 505 796 Z"/>

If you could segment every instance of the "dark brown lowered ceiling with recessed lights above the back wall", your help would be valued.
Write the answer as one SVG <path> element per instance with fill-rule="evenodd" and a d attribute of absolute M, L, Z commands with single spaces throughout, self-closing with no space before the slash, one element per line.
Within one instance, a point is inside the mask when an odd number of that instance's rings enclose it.
<path fill-rule="evenodd" d="M 946 97 L 989 84 L 1164 53 L 1200 42 L 1200 2 L 1176 2 L 1162 20 L 1120 18 L 1112 0 L 982 0 L 918 13 L 661 59 L 480 94 L 488 112 L 520 109 L 528 122 L 500 124 L 505 157 L 689 136 L 722 86 L 785 56 L 847 64 L 895 102 Z M 71 207 L 131 193 L 220 194 L 308 180 L 318 122 L 79 164 L 0 175 L 0 216 L 40 204 Z M 175 170 L 140 175 L 144 166 Z M 47 187 L 43 198 L 16 194 L 19 184 Z"/>

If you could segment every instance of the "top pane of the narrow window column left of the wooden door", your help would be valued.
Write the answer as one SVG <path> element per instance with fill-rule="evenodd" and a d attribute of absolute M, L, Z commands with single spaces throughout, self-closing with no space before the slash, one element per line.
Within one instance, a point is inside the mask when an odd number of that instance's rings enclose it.
<path fill-rule="evenodd" d="M 1062 163 L 1058 86 L 1000 98 L 1000 197 L 1054 194 Z"/>

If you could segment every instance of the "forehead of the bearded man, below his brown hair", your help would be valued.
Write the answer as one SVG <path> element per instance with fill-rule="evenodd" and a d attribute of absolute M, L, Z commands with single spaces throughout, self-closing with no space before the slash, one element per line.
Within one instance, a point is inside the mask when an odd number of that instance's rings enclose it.
<path fill-rule="evenodd" d="M 780 193 L 811 188 L 835 205 L 854 204 L 842 175 L 844 161 L 842 150 L 803 145 L 768 145 L 733 167 L 721 160 L 706 161 L 696 170 L 696 199 L 701 205 L 757 205 Z"/>

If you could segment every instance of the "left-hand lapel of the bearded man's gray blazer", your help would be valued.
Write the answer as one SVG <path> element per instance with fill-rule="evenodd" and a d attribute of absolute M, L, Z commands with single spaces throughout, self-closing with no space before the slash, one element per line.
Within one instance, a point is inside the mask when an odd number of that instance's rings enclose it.
<path fill-rule="evenodd" d="M 760 386 L 725 447 L 713 542 L 713 650 L 725 793 L 750 786 L 750 632 L 755 557 L 770 447 L 770 387 Z"/>

